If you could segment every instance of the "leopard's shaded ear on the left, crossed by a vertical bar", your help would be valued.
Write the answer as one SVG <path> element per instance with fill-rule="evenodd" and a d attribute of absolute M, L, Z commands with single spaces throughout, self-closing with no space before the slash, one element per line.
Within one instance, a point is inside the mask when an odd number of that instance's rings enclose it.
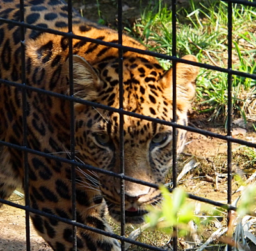
<path fill-rule="evenodd" d="M 65 63 L 65 73 L 69 78 L 69 59 Z M 74 96 L 93 100 L 98 96 L 102 84 L 100 78 L 83 57 L 73 55 L 73 79 L 74 79 Z"/>

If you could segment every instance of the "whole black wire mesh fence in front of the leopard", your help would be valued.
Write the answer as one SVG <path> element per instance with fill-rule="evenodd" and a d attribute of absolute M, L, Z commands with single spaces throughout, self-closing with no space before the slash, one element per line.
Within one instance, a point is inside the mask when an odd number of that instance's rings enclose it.
<path fill-rule="evenodd" d="M 54 1 L 54 0 L 52 0 Z M 15 21 L 15 20 L 8 20 L 8 19 L 3 19 L 0 18 L 0 22 L 2 23 L 7 23 L 7 24 L 12 24 L 14 26 L 19 26 L 20 27 L 20 45 L 21 45 L 21 58 L 22 58 L 22 82 L 21 83 L 16 83 L 12 82 L 10 80 L 4 80 L 0 79 L 0 84 L 6 85 L 6 86 L 13 86 L 15 88 L 19 88 L 22 90 L 22 126 L 23 126 L 23 145 L 18 146 L 16 144 L 12 144 L 10 142 L 5 142 L 5 141 L 0 141 L 1 146 L 7 146 L 9 148 L 17 149 L 19 151 L 22 151 L 24 154 L 24 172 L 25 172 L 25 178 L 24 178 L 24 188 L 25 188 L 25 195 L 26 195 L 26 205 L 21 206 L 19 204 L 16 204 L 11 201 L 7 201 L 4 199 L 0 199 L 0 202 L 3 202 L 4 204 L 8 204 L 13 207 L 17 207 L 20 209 L 24 209 L 26 211 L 26 243 L 27 243 L 27 250 L 30 250 L 30 230 L 29 230 L 29 213 L 35 213 L 38 215 L 42 215 L 54 220 L 58 220 L 60 222 L 64 222 L 67 224 L 70 224 L 73 226 L 73 250 L 77 250 L 77 240 L 76 240 L 76 231 L 77 227 L 81 227 L 83 229 L 87 229 L 88 231 L 93 231 L 97 232 L 99 234 L 103 234 L 105 236 L 109 236 L 112 238 L 115 238 L 116 240 L 119 240 L 121 242 L 121 249 L 125 250 L 125 242 L 131 243 L 134 245 L 138 245 L 143 248 L 148 248 L 148 250 L 164 250 L 163 248 L 158 248 L 158 247 L 153 247 L 150 245 L 147 245 L 145 243 L 140 243 L 139 241 L 134 241 L 130 238 L 125 237 L 125 194 L 124 194 L 124 186 L 125 183 L 124 181 L 131 181 L 134 183 L 138 183 L 141 185 L 147 185 L 152 188 L 158 188 L 156 184 L 148 183 L 145 181 L 141 181 L 140 179 L 135 179 L 131 178 L 129 176 L 125 175 L 125 168 L 124 168 L 124 158 L 125 158 L 125 152 L 124 152 L 124 115 L 126 116 L 132 116 L 134 118 L 139 118 L 139 119 L 145 119 L 147 121 L 152 121 L 155 123 L 159 123 L 161 125 L 168 125 L 172 126 L 173 128 L 173 188 L 177 187 L 177 129 L 184 129 L 189 132 L 195 132 L 195 133 L 200 133 L 202 135 L 210 136 L 210 137 L 215 137 L 218 139 L 222 139 L 227 142 L 227 172 L 228 172 L 228 179 L 227 179 L 227 204 L 223 204 L 217 201 L 212 201 L 211 199 L 203 198 L 203 197 L 198 197 L 196 195 L 189 194 L 188 197 L 191 199 L 195 199 L 197 201 L 201 202 L 207 202 L 209 204 L 212 204 L 214 206 L 220 206 L 222 208 L 227 209 L 228 215 L 227 215 L 227 220 L 230 220 L 230 213 L 232 210 L 236 210 L 236 207 L 231 206 L 232 202 L 232 143 L 237 143 L 237 144 L 242 144 L 244 146 L 249 146 L 252 148 L 256 148 L 256 144 L 248 141 L 244 141 L 241 139 L 235 139 L 232 137 L 232 75 L 237 75 L 241 77 L 246 77 L 246 78 L 251 78 L 251 79 L 256 79 L 256 75 L 250 74 L 250 73 L 244 73 L 244 72 L 239 72 L 236 70 L 232 70 L 232 6 L 234 3 L 236 4 L 244 4 L 244 6 L 255 6 L 256 3 L 251 2 L 251 1 L 243 1 L 243 0 L 226 0 L 228 4 L 228 67 L 227 68 L 221 68 L 218 66 L 212 66 L 212 65 L 207 65 L 207 64 L 202 64 L 202 63 L 195 63 L 195 62 L 188 62 L 184 59 L 179 59 L 177 57 L 177 29 L 176 29 L 176 5 L 177 1 L 172 0 L 172 56 L 166 56 L 164 54 L 159 54 L 156 52 L 150 52 L 150 51 L 145 51 L 145 50 L 140 50 L 132 47 L 127 47 L 122 45 L 122 0 L 118 0 L 118 43 L 111 43 L 111 42 L 104 42 L 102 40 L 97 40 L 93 38 L 88 38 L 88 37 L 83 37 L 83 36 L 78 36 L 74 33 L 72 33 L 72 1 L 68 0 L 68 33 L 64 33 L 62 31 L 58 30 L 52 30 L 48 29 L 42 26 L 33 26 L 31 24 L 26 23 L 24 20 L 24 0 L 20 0 L 20 22 Z M 24 33 L 25 29 L 34 29 L 36 31 L 42 31 L 44 33 L 51 33 L 51 34 L 58 34 L 60 36 L 63 36 L 65 38 L 68 38 L 68 56 L 69 56 L 69 84 L 70 84 L 70 91 L 69 95 L 61 95 L 60 93 L 54 93 L 52 91 L 47 91 L 45 89 L 38 89 L 33 86 L 29 86 L 26 84 L 26 60 L 25 60 L 25 44 L 26 42 L 24 41 Z M 118 63 L 119 63 L 119 68 L 118 68 L 118 75 L 119 75 L 119 92 L 120 92 L 120 100 L 119 100 L 119 109 L 113 108 L 113 107 L 108 107 L 106 105 L 102 105 L 100 103 L 94 103 L 86 100 L 81 100 L 77 99 L 74 97 L 74 75 L 73 75 L 73 61 L 72 61 L 72 54 L 73 54 L 73 43 L 72 40 L 77 39 L 81 40 L 84 42 L 93 42 L 97 43 L 100 45 L 106 45 L 108 47 L 115 47 L 118 49 Z M 172 61 L 173 63 L 173 120 L 170 121 L 163 121 L 161 119 L 156 119 L 156 118 L 150 118 L 148 116 L 143 116 L 141 114 L 136 114 L 134 112 L 128 112 L 123 109 L 123 52 L 124 51 L 131 51 L 131 52 L 137 52 L 139 54 L 147 54 L 149 56 L 154 56 L 154 57 L 159 57 L 162 59 L 168 59 Z M 188 63 L 191 65 L 195 65 L 198 67 L 206 68 L 209 70 L 215 70 L 218 72 L 223 72 L 227 73 L 227 82 L 228 82 L 228 122 L 227 122 L 227 135 L 220 135 L 218 133 L 213 133 L 209 132 L 206 130 L 200 130 L 198 128 L 193 128 L 191 126 L 184 126 L 184 125 L 179 125 L 177 124 L 177 99 L 176 99 L 176 64 L 177 63 Z M 27 91 L 32 91 L 36 93 L 37 95 L 49 95 L 49 96 L 54 96 L 63 100 L 68 100 L 70 102 L 70 158 L 65 159 L 61 158 L 58 156 L 50 155 L 48 153 L 36 151 L 34 149 L 28 148 L 28 128 L 27 128 Z M 95 108 L 100 108 L 100 109 L 106 109 L 111 112 L 117 112 L 120 114 L 120 173 L 115 173 L 103 169 L 97 169 L 97 167 L 93 167 L 91 165 L 86 165 L 86 164 L 81 164 L 77 163 L 76 160 L 76 153 L 75 153 L 75 128 L 74 128 L 74 121 L 75 121 L 75 115 L 74 115 L 74 103 L 81 103 L 84 105 L 91 105 Z M 44 211 L 39 211 L 35 208 L 31 208 L 30 204 L 31 202 L 29 201 L 29 169 L 28 169 L 28 153 L 33 153 L 35 155 L 43 156 L 45 158 L 49 158 L 51 160 L 56 160 L 60 161 L 63 163 L 67 163 L 72 167 L 72 219 L 67 219 L 67 218 L 61 218 L 58 217 L 57 215 L 52 215 L 49 213 L 46 213 Z M 121 234 L 113 234 L 110 232 L 102 231 L 100 229 L 96 229 L 94 227 L 90 227 L 88 225 L 81 224 L 76 221 L 76 167 L 80 167 L 81 169 L 87 169 L 90 171 L 95 171 L 95 172 L 100 172 L 109 176 L 113 176 L 115 178 L 120 179 L 120 187 L 121 187 Z M 170 192 L 172 192 L 172 189 L 169 189 Z M 175 231 L 175 229 L 174 229 Z M 173 250 L 177 250 L 178 245 L 177 245 L 177 237 L 173 237 Z M 231 250 L 232 247 L 228 247 L 228 250 Z"/>

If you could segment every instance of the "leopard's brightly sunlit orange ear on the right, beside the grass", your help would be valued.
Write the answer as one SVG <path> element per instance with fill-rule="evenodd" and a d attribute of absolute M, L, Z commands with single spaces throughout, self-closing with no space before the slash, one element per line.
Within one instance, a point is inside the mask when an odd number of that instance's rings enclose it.
<path fill-rule="evenodd" d="M 195 56 L 187 55 L 182 57 L 188 61 L 198 62 Z M 195 96 L 195 80 L 198 75 L 197 66 L 184 63 L 176 65 L 176 86 L 177 86 L 177 105 L 181 109 L 188 109 L 191 98 Z M 164 93 L 172 100 L 172 68 L 168 70 L 160 80 Z"/>

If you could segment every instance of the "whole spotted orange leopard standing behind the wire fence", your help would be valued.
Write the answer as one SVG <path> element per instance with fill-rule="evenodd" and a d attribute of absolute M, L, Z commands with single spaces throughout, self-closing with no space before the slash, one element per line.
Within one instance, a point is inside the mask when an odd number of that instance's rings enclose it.
<path fill-rule="evenodd" d="M 122 95 L 122 110 L 172 122 L 172 68 L 164 70 L 156 57 L 124 49 L 123 94 L 120 94 L 117 31 L 84 19 L 73 10 L 70 33 L 68 5 L 61 0 L 25 0 L 24 22 L 22 17 L 19 0 L 0 1 L 0 198 L 7 200 L 16 188 L 25 189 L 24 165 L 27 165 L 31 208 L 73 220 L 73 189 L 76 222 L 111 233 L 108 215 L 120 222 L 123 189 L 125 223 L 141 224 L 147 206 L 161 201 L 161 192 L 157 186 L 131 180 L 122 185 L 119 176 L 108 172 L 120 174 L 120 165 L 124 165 L 125 176 L 154 185 L 164 183 L 172 169 L 173 128 L 152 119 L 121 116 L 99 104 L 120 109 Z M 22 28 L 15 22 L 4 22 L 6 19 L 28 26 Z M 70 39 L 64 33 L 77 37 Z M 122 45 L 147 50 L 127 34 L 122 34 Z M 182 59 L 193 62 L 175 65 L 175 122 L 186 126 L 195 96 L 198 66 L 195 56 L 186 55 Z M 184 148 L 186 130 L 177 128 L 176 135 L 179 154 Z M 31 151 L 23 151 L 24 148 Z M 124 151 L 123 159 L 120 151 Z M 76 186 L 72 188 L 74 165 Z M 35 212 L 30 217 L 38 234 L 53 250 L 72 250 L 74 229 L 65 220 Z M 80 225 L 76 230 L 77 250 L 120 250 L 120 243 L 113 236 Z"/>

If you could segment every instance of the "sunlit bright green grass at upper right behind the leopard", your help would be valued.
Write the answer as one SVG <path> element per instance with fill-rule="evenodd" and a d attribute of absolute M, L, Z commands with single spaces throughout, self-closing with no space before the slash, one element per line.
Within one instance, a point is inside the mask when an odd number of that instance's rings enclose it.
<path fill-rule="evenodd" d="M 252 1 L 252 0 L 251 0 Z M 188 8 L 177 7 L 177 54 L 194 54 L 201 63 L 227 68 L 227 3 L 189 1 Z M 233 4 L 232 67 L 256 74 L 256 8 Z M 172 11 L 156 1 L 148 6 L 130 33 L 148 49 L 172 55 Z M 160 59 L 165 69 L 171 62 Z M 227 120 L 227 74 L 202 68 L 198 77 L 195 107 L 211 112 L 209 120 Z M 234 75 L 232 103 L 234 115 L 247 119 L 256 98 L 256 80 Z M 204 107 L 204 109 L 202 109 Z"/>

